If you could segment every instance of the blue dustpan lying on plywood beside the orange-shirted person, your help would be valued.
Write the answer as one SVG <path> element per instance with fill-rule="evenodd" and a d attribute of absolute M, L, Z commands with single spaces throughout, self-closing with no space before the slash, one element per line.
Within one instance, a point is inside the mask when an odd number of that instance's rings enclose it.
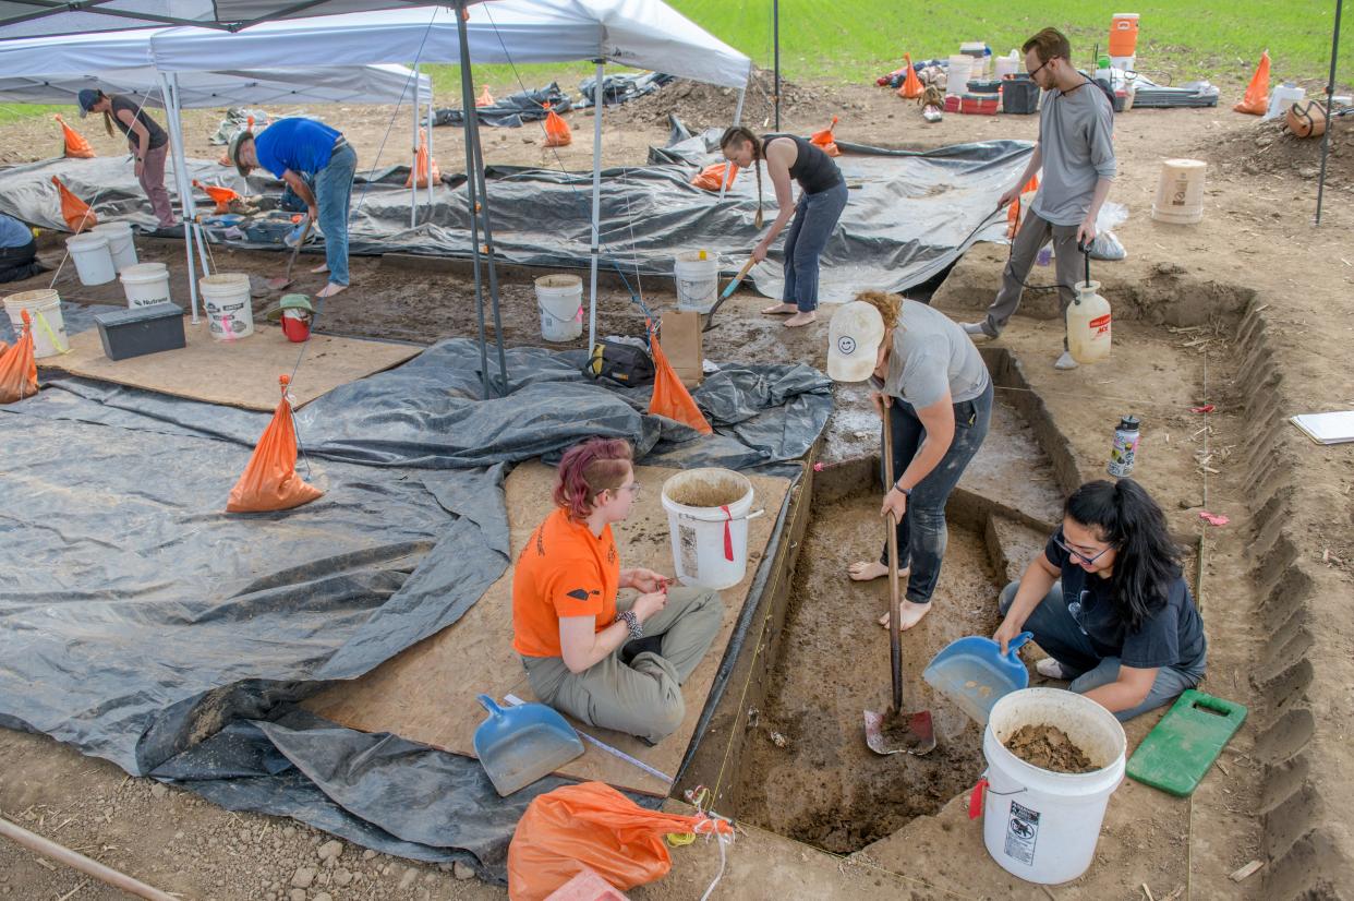
<path fill-rule="evenodd" d="M 475 699 L 489 711 L 475 729 L 475 756 L 500 795 L 508 797 L 582 756 L 578 733 L 546 705 L 504 709 L 489 695 Z"/>

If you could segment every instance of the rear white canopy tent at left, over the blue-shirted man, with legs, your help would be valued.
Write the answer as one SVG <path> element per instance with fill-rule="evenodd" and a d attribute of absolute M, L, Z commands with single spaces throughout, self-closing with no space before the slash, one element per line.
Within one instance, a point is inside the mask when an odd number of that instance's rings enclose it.
<path fill-rule="evenodd" d="M 169 112 L 167 125 L 173 154 L 173 176 L 183 211 L 188 255 L 188 293 L 194 322 L 198 321 L 198 279 L 194 244 L 204 272 L 210 271 L 203 234 L 194 225 L 196 202 L 188 177 L 179 114 L 184 108 L 217 108 L 265 103 L 403 103 L 413 115 L 413 149 L 417 157 L 421 111 L 427 110 L 432 141 L 432 83 L 402 65 L 303 66 L 299 69 L 248 69 L 165 75 L 152 65 L 154 28 L 103 31 L 0 41 L 0 102 L 74 103 L 84 88 L 125 93 L 144 106 Z M 429 148 L 431 150 L 431 148 Z M 417 187 L 410 188 L 410 219 L 416 215 Z M 428 186 L 432 203 L 432 184 Z M 195 241 L 196 238 L 196 241 Z"/>

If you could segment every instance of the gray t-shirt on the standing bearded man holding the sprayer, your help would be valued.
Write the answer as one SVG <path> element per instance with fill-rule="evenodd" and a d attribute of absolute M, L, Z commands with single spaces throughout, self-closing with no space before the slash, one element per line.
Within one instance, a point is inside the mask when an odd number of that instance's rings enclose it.
<path fill-rule="evenodd" d="M 1114 180 L 1114 110 L 1091 81 L 1063 93 L 1049 91 L 1039 114 L 1044 175 L 1034 213 L 1053 225 L 1080 225 L 1099 179 Z"/>

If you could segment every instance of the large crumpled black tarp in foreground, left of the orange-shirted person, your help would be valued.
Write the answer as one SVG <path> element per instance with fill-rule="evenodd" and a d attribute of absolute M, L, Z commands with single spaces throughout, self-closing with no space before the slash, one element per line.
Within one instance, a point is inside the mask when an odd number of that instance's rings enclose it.
<path fill-rule="evenodd" d="M 646 462 L 774 470 L 831 408 L 806 366 L 726 366 L 696 392 L 718 429 L 699 438 L 577 354 L 508 354 L 508 398 L 477 400 L 478 351 L 454 339 L 302 408 L 301 469 L 326 493 L 252 515 L 222 511 L 268 415 L 45 371 L 0 406 L 0 725 L 502 878 L 517 816 L 554 782 L 501 802 L 474 760 L 292 702 L 456 622 L 502 574 L 513 462 L 604 434 Z"/>

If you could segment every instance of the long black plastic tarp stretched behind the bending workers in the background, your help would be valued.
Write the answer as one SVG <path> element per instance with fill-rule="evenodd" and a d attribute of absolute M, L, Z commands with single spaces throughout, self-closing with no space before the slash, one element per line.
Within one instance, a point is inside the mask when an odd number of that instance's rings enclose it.
<path fill-rule="evenodd" d="M 653 165 L 604 169 L 601 182 L 603 264 L 645 275 L 672 275 L 674 255 L 705 248 L 720 253 L 731 274 L 761 237 L 753 226 L 757 182 L 739 173 L 720 202 L 688 184 L 715 159 L 700 144 L 655 149 Z M 850 199 L 822 256 L 819 299 L 842 302 L 865 289 L 902 291 L 926 282 L 959 259 L 978 240 L 998 240 L 1005 219 L 1001 196 L 1020 176 L 1032 145 L 1020 141 L 965 144 L 925 153 L 838 146 Z M 93 165 L 99 160 L 56 160 L 0 172 L 0 211 L 34 225 L 64 228 L 49 179 L 60 173 L 91 201 L 100 217 L 123 215 L 145 205 L 130 167 Z M 219 175 L 221 167 L 194 161 L 194 175 Z M 398 171 L 398 172 L 402 172 Z M 409 225 L 409 191 L 398 172 L 353 194 L 349 248 L 353 253 L 387 252 L 466 257 L 470 219 L 464 188 L 456 177 L 433 192 L 431 213 Z M 538 267 L 589 266 L 592 176 L 515 167 L 489 167 L 489 205 L 496 251 L 508 263 Z M 764 179 L 765 180 L 765 179 Z M 456 184 L 456 187 L 451 187 Z M 421 198 L 420 198 L 421 199 Z M 765 186 L 766 214 L 776 211 Z M 149 213 L 138 214 L 149 221 Z M 218 236 L 219 238 L 219 236 Z M 229 241 L 236 247 L 268 247 Z M 757 290 L 779 297 L 783 287 L 781 243 L 751 271 Z"/>

